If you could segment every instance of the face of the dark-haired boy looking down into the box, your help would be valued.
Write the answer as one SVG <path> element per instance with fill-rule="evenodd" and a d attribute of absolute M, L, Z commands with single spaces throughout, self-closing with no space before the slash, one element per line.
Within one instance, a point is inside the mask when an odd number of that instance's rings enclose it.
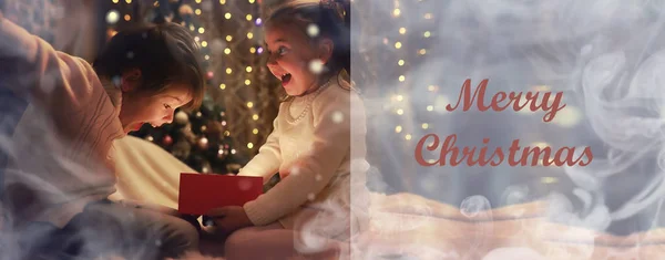
<path fill-rule="evenodd" d="M 140 91 L 123 92 L 120 121 L 125 133 L 137 131 L 143 124 L 170 124 L 175 108 L 191 101 L 188 87 L 184 84 L 174 84 L 156 95 Z"/>

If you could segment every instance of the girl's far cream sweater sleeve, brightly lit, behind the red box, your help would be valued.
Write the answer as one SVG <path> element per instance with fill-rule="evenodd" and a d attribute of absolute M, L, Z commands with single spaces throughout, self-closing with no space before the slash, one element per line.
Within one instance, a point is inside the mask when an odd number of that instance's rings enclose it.
<path fill-rule="evenodd" d="M 266 183 L 277 173 L 282 164 L 278 118 L 273 122 L 273 132 L 266 138 L 266 143 L 260 146 L 258 154 L 243 167 L 238 173 L 239 176 L 259 176 Z"/>

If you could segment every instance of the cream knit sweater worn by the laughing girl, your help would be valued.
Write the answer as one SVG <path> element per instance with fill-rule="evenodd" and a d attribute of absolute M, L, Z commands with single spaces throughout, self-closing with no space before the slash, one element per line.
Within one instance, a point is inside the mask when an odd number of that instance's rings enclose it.
<path fill-rule="evenodd" d="M 282 177 L 268 193 L 244 205 L 252 222 L 263 226 L 279 220 L 294 229 L 296 222 L 305 221 L 304 211 L 313 211 L 337 220 L 348 219 L 350 174 L 364 180 L 367 169 L 365 134 L 361 101 L 337 77 L 317 92 L 282 103 L 266 144 L 239 173 L 262 176 L 264 181 L 277 171 Z M 360 167 L 351 170 L 351 162 Z"/>

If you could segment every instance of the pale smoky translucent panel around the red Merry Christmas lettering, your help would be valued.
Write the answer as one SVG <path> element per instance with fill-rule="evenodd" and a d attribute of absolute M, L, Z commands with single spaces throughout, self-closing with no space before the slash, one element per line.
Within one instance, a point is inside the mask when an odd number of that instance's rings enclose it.
<path fill-rule="evenodd" d="M 648 239 L 648 231 L 661 227 L 665 2 L 423 0 L 355 4 L 352 27 L 358 48 L 352 76 L 364 91 L 368 132 L 372 133 L 367 147 L 372 167 L 368 187 L 393 198 L 416 194 L 424 198 L 416 202 L 432 205 L 436 200 L 434 208 L 456 207 L 464 222 L 478 222 L 474 218 L 481 212 L 489 215 L 484 218 L 490 220 L 467 235 L 468 246 L 457 247 L 463 248 L 456 252 L 459 259 L 564 259 L 557 257 L 566 251 L 565 256 L 574 259 L 605 259 L 592 258 L 597 233 L 628 241 L 627 236 L 636 233 L 646 233 L 643 239 Z M 498 92 L 540 91 L 562 92 L 566 107 L 550 123 L 542 122 L 542 111 L 447 111 L 446 105 L 458 102 L 467 79 L 472 87 L 489 80 L 485 104 Z M 508 147 L 513 139 L 521 146 L 546 144 L 552 150 L 576 147 L 576 153 L 589 146 L 594 159 L 587 166 L 422 167 L 415 163 L 413 150 L 418 141 L 431 133 L 441 139 L 458 135 L 460 149 L 483 147 L 483 138 L 490 139 L 489 150 Z M 426 158 L 438 159 L 439 153 L 423 149 Z M 511 229 L 492 217 L 493 211 L 508 208 L 514 216 L 530 214 L 525 205 L 536 202 L 546 205 L 538 210 L 538 220 L 522 216 L 514 220 L 522 222 L 522 232 L 501 238 L 511 242 L 483 245 Z M 372 206 L 372 221 L 397 218 L 380 206 L 389 202 L 376 199 L 372 204 L 379 204 Z M 412 221 L 442 217 L 419 216 L 423 218 Z M 543 233 L 550 225 L 571 228 Z M 524 233 L 531 236 L 531 242 L 520 239 Z M 543 249 L 571 237 L 591 246 L 573 250 L 562 242 L 557 250 Z M 440 242 L 437 245 L 456 241 L 446 235 L 432 240 Z M 533 241 L 545 246 L 533 246 Z M 640 249 L 640 241 L 631 241 L 622 258 L 651 259 L 641 252 L 646 249 Z M 381 248 L 381 243 L 377 240 L 368 248 Z M 408 241 L 393 245 L 412 246 Z M 479 250 L 483 247 L 484 251 Z M 472 256 L 469 252 L 473 250 L 483 253 Z M 443 259 L 443 253 L 416 259 Z M 398 254 L 410 259 L 408 256 L 417 253 L 402 250 Z"/>

